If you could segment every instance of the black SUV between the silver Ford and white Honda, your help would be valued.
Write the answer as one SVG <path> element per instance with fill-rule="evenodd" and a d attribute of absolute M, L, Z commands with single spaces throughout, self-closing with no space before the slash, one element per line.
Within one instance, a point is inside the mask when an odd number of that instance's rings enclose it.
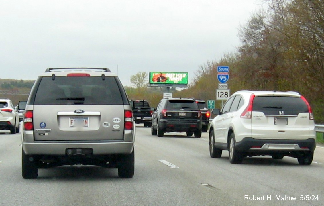
<path fill-rule="evenodd" d="M 152 135 L 162 137 L 164 132 L 187 132 L 201 137 L 201 111 L 194 99 L 163 98 L 152 115 Z"/>

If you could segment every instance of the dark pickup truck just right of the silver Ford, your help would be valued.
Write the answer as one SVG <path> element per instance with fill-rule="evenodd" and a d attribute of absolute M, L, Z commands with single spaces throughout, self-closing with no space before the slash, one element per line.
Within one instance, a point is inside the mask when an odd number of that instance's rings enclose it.
<path fill-rule="evenodd" d="M 144 127 L 151 127 L 154 108 L 151 108 L 146 100 L 129 100 L 129 103 L 133 109 L 135 124 L 144 124 Z"/>

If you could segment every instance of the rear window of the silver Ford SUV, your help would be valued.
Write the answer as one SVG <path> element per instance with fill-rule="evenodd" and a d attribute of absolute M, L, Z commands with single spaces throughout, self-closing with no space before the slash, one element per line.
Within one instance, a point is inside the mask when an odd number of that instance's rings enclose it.
<path fill-rule="evenodd" d="M 114 77 L 42 77 L 34 105 L 67 104 L 120 105 L 123 100 Z"/>

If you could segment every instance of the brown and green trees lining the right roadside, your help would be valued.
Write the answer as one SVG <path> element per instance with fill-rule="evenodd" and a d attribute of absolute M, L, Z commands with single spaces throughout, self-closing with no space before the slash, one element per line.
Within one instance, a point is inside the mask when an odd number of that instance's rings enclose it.
<path fill-rule="evenodd" d="M 310 103 L 315 122 L 324 123 L 324 1 L 266 2 L 268 8 L 254 12 L 238 29 L 236 51 L 199 66 L 193 83 L 172 92 L 173 97 L 215 99 L 217 66 L 229 66 L 227 83 L 232 94 L 242 89 L 297 91 Z M 149 95 L 142 98 L 154 107 L 163 97 L 151 94 L 152 88 L 138 89 L 129 96 L 136 98 L 145 90 Z"/>

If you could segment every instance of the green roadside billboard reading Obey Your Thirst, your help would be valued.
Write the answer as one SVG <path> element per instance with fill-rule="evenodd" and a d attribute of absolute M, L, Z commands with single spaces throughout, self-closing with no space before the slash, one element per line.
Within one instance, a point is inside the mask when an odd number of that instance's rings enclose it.
<path fill-rule="evenodd" d="M 150 86 L 187 87 L 188 72 L 150 72 Z"/>

